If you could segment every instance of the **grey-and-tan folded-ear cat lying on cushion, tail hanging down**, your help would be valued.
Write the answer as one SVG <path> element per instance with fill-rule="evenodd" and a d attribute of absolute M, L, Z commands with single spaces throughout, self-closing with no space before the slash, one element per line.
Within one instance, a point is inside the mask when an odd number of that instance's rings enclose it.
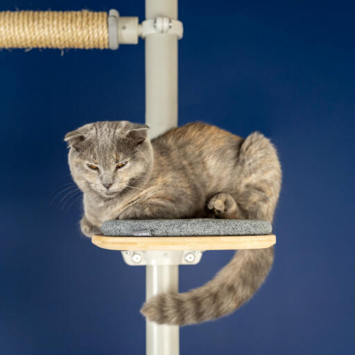
<path fill-rule="evenodd" d="M 83 191 L 87 236 L 111 219 L 218 218 L 272 222 L 281 166 L 269 139 L 246 139 L 213 125 L 189 123 L 152 141 L 148 125 L 89 123 L 67 133 L 69 167 Z M 141 313 L 159 324 L 194 324 L 235 311 L 268 275 L 273 248 L 240 250 L 204 286 L 159 294 Z"/>

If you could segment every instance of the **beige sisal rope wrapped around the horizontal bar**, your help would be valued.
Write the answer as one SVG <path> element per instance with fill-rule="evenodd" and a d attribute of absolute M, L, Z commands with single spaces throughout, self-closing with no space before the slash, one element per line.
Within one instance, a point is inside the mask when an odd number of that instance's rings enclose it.
<path fill-rule="evenodd" d="M 108 48 L 107 12 L 0 12 L 0 48 Z"/>

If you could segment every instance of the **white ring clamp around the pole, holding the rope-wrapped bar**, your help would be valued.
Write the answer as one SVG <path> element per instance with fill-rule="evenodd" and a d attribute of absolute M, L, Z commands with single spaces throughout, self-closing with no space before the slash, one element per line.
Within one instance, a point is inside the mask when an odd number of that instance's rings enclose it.
<path fill-rule="evenodd" d="M 147 35 L 154 35 L 157 33 L 168 33 L 169 35 L 176 35 L 180 40 L 184 33 L 182 22 L 176 19 L 169 19 L 168 17 L 156 17 L 155 19 L 146 19 L 141 23 L 141 37 L 145 38 Z"/>

